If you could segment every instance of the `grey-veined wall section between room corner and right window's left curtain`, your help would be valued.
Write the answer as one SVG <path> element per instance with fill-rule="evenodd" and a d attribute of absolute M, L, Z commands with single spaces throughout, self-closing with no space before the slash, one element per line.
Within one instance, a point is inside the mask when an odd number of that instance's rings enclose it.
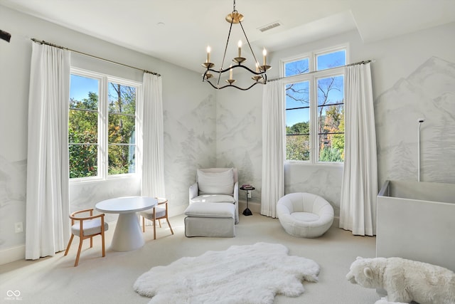
<path fill-rule="evenodd" d="M 251 203 L 260 204 L 262 179 L 262 85 L 226 88 L 217 95 L 217 167 L 237 167 L 239 187 L 252 184 Z M 246 201 L 246 194 L 239 193 Z"/>

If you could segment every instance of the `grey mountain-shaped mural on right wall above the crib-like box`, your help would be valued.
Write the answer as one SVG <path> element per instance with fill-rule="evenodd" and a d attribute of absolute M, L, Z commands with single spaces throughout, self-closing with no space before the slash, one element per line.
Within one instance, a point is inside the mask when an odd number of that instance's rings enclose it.
<path fill-rule="evenodd" d="M 417 180 L 419 133 L 421 181 L 455 183 L 453 62 L 428 58 L 385 90 L 375 100 L 375 123 L 380 184 Z"/>

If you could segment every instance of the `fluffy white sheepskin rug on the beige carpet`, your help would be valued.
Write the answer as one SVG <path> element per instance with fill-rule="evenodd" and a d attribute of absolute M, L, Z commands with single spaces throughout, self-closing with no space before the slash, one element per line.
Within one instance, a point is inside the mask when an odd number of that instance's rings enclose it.
<path fill-rule="evenodd" d="M 317 282 L 319 265 L 288 256 L 281 244 L 256 243 L 207 251 L 156 266 L 134 283 L 149 303 L 273 303 L 274 296 L 304 293 L 302 281 Z"/>

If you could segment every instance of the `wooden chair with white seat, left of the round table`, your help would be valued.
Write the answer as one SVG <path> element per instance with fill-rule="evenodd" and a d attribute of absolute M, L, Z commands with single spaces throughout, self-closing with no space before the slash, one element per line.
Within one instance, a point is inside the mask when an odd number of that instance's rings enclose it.
<path fill-rule="evenodd" d="M 89 216 L 79 217 L 76 214 L 88 213 Z M 100 235 L 102 241 L 102 256 L 105 256 L 105 231 L 109 229 L 109 225 L 105 223 L 105 214 L 93 215 L 93 209 L 85 209 L 75 211 L 70 214 L 71 219 L 71 238 L 66 247 L 65 256 L 70 250 L 71 242 L 74 236 L 79 236 L 79 249 L 77 249 L 77 256 L 74 266 L 76 267 L 79 263 L 80 249 L 82 248 L 82 241 L 90 239 L 90 248 L 93 247 L 93 236 Z M 101 229 L 104 227 L 104 229 Z"/>

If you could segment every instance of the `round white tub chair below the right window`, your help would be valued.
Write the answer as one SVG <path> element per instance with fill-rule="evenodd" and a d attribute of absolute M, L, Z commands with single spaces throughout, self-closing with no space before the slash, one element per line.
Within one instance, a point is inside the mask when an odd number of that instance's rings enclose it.
<path fill-rule="evenodd" d="M 306 192 L 289 193 L 277 202 L 277 215 L 292 236 L 317 238 L 333 223 L 333 207 L 321 196 Z"/>

